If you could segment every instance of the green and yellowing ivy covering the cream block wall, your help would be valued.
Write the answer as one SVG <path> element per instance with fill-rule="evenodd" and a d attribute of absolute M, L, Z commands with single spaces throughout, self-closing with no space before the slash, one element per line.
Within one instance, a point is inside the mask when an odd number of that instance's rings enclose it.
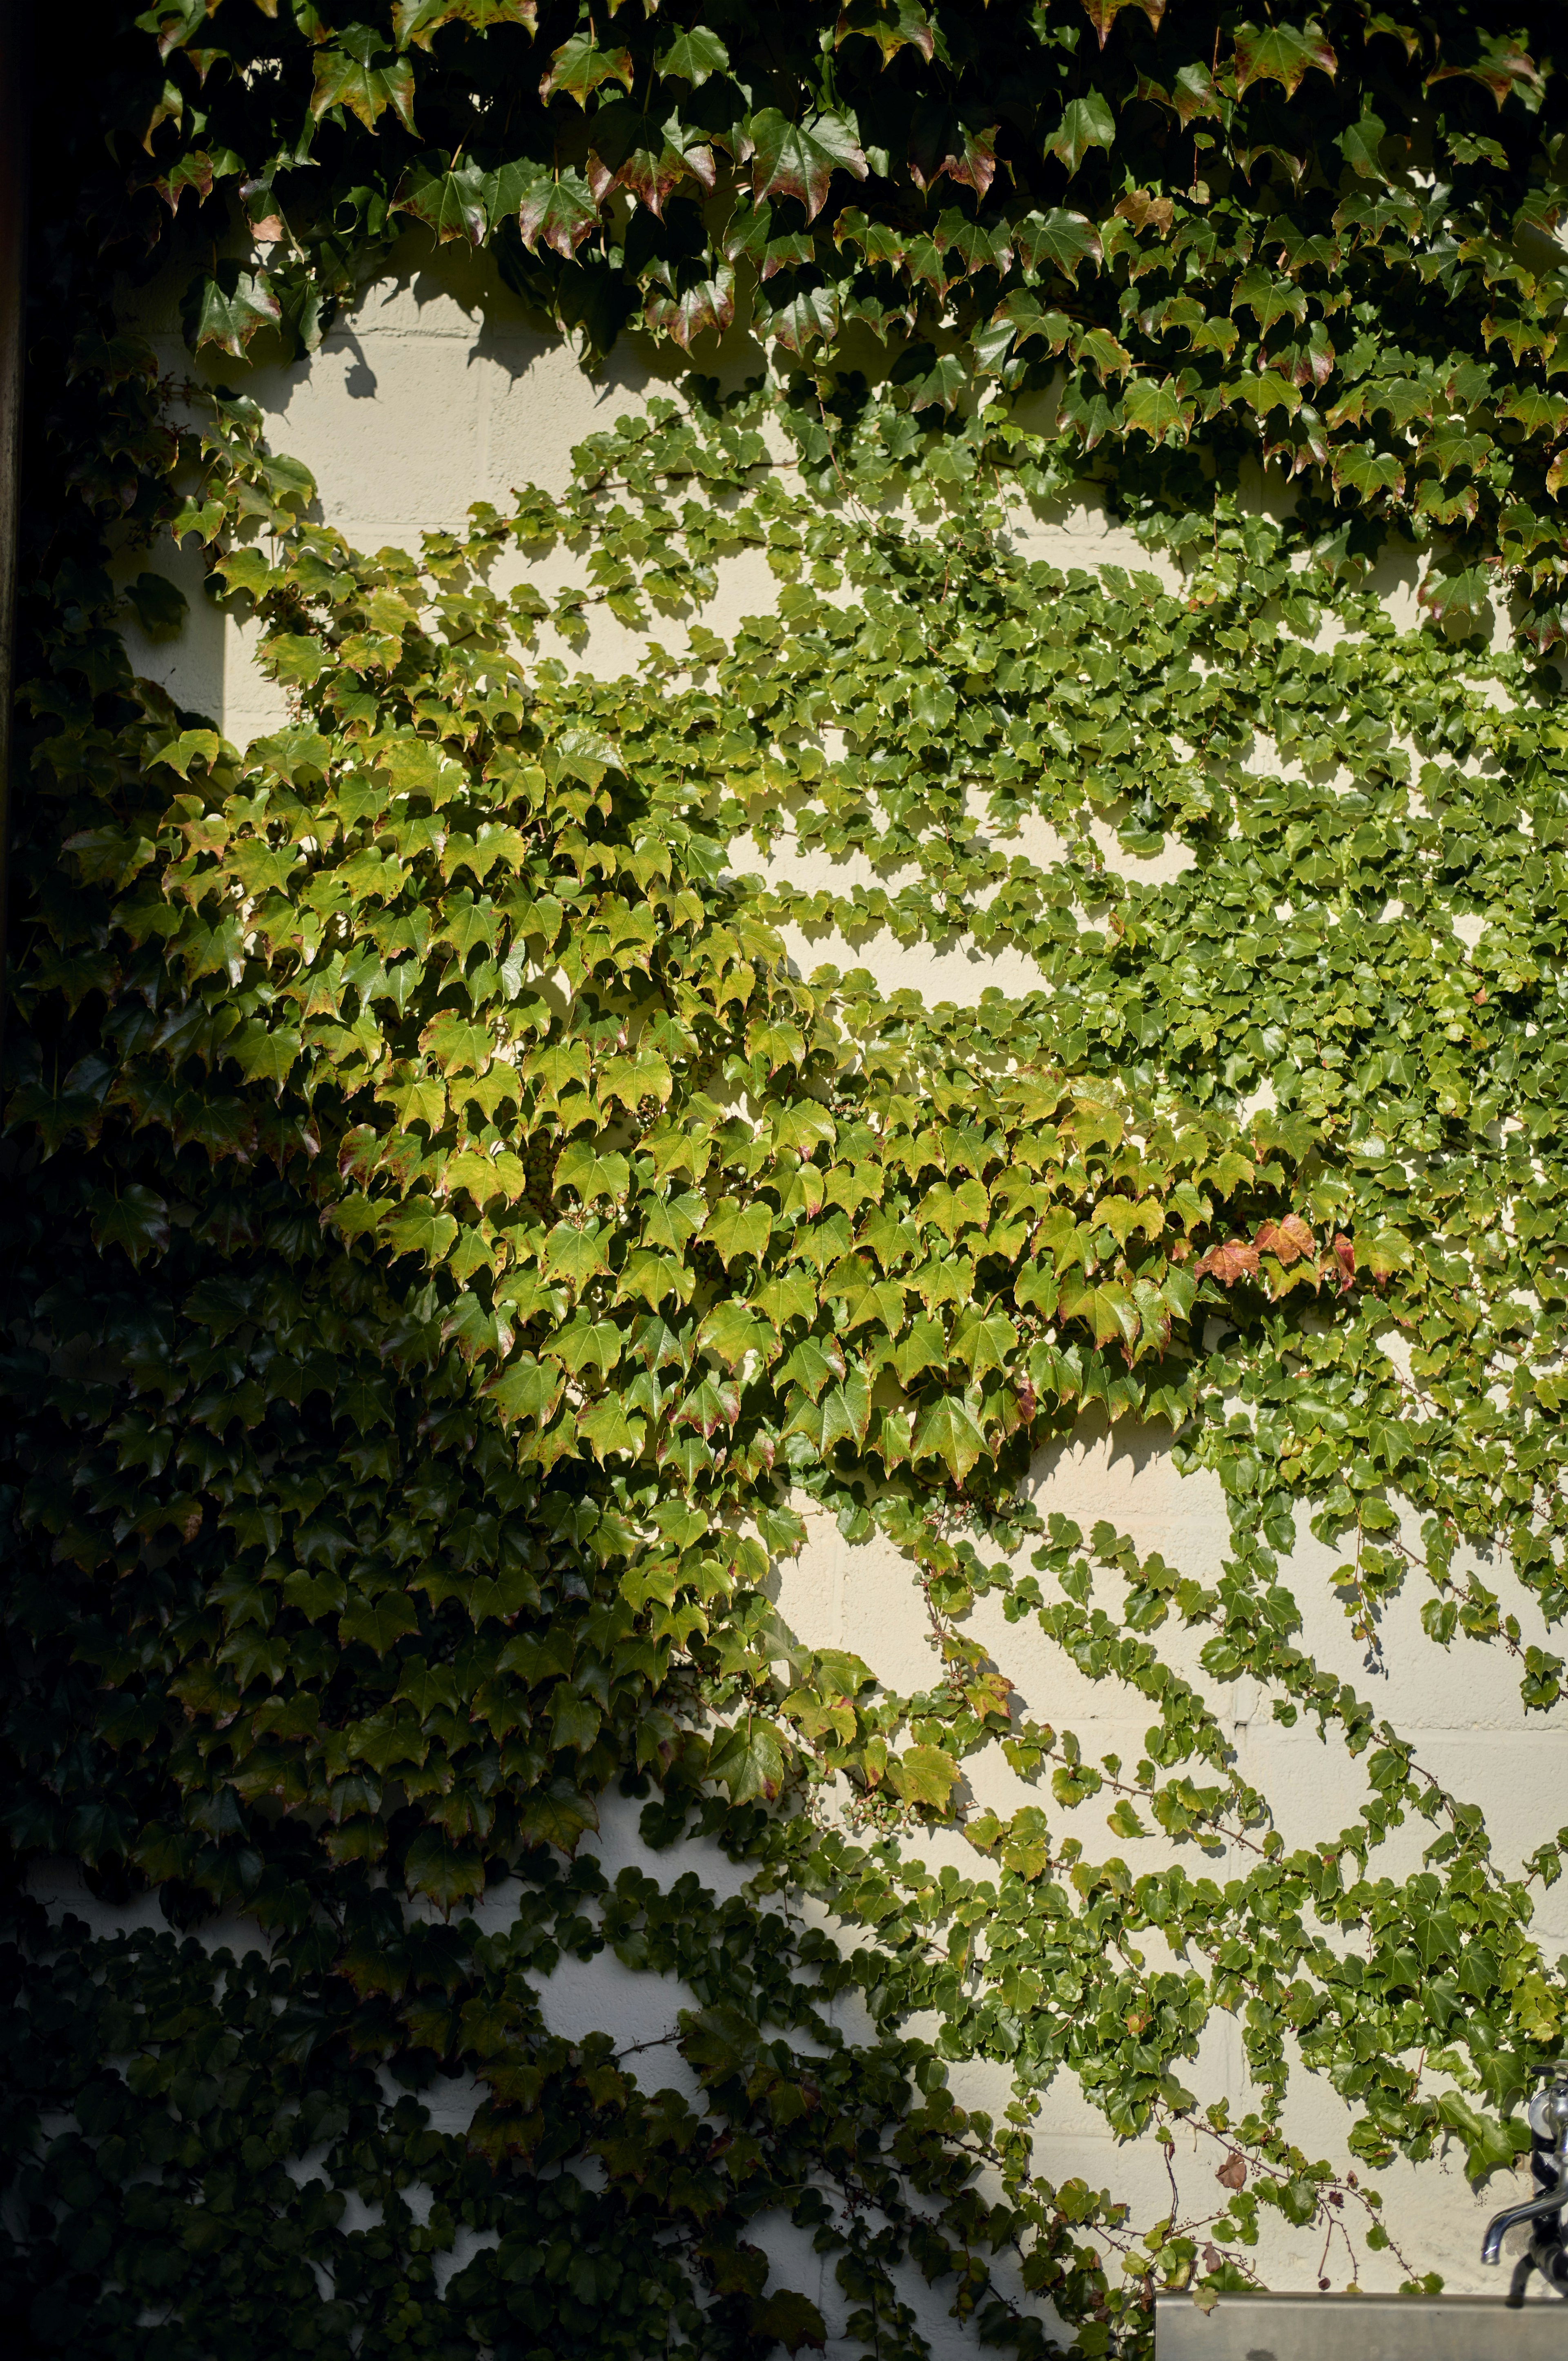
<path fill-rule="evenodd" d="M 1325 2283 L 1422 2283 L 1367 2172 L 1511 2165 L 1563 2014 L 1568 1830 L 1495 1858 L 1377 1705 L 1400 1594 L 1528 1712 L 1563 1679 L 1549 64 L 1464 7 L 1157 0 L 102 33 L 90 104 L 45 90 L 9 977 L 31 2349 L 812 2349 L 779 2217 L 878 2356 L 928 2349 L 909 2267 L 978 2344 L 1148 2352 L 1266 2210 Z M 756 373 L 359 552 L 104 257 L 243 357 L 404 231 L 489 241 L 588 359 L 749 321 Z M 1027 555 L 1079 496 L 1145 567 Z M 260 623 L 250 746 L 132 675 L 168 538 Z M 741 552 L 775 609 L 720 633 Z M 595 607 L 635 673 L 574 661 Z M 886 992 L 845 959 L 888 937 L 1039 987 Z M 1219 1478 L 1219 1577 L 1030 1506 L 1091 1410 Z M 782 1617 L 805 1509 L 904 1554 L 928 1688 Z M 1308 1525 L 1360 1686 L 1306 1646 Z M 997 1620 L 1143 1757 L 1032 1719 Z M 1358 1766 L 1348 1825 L 1287 1849 L 1242 1679 Z M 583 1842 L 616 1787 L 668 1877 Z M 168 1931 L 45 1912 L 50 1856 Z M 548 2030 L 605 1950 L 692 1993 L 699 2097 Z M 1216 2012 L 1240 2120 L 1190 2087 Z M 1164 2144 L 1157 2219 L 1034 2170 L 1063 2071 Z"/>

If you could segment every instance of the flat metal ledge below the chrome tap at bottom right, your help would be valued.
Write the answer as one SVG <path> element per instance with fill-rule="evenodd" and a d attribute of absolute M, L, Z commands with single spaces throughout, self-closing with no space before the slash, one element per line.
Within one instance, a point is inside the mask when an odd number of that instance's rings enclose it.
<path fill-rule="evenodd" d="M 1533 2295 L 1155 2297 L 1157 2361 L 1568 2361 L 1568 2302 Z"/>

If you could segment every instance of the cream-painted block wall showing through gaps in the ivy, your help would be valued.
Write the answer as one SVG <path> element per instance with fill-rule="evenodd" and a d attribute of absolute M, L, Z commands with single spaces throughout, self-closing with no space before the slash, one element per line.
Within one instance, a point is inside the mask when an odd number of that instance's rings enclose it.
<path fill-rule="evenodd" d="M 529 326 L 520 305 L 489 276 L 486 264 L 470 257 L 439 257 L 406 250 L 397 279 L 373 288 L 352 319 L 328 335 L 309 364 L 236 368 L 222 364 L 210 375 L 260 401 L 269 420 L 269 439 L 279 451 L 305 460 L 319 484 L 324 517 L 361 548 L 385 543 L 416 545 L 418 534 L 463 522 L 468 503 L 489 498 L 505 503 L 508 491 L 524 482 L 564 489 L 571 446 L 621 411 L 635 408 L 649 387 L 668 385 L 671 371 L 656 364 L 631 338 L 609 359 L 605 375 L 588 380 L 560 342 Z M 170 371 L 184 373 L 189 357 L 172 316 L 161 316 L 153 300 L 142 312 L 144 326 L 158 338 Z M 756 349 L 725 354 L 737 375 L 756 366 Z M 711 366 L 711 364 L 708 364 Z M 1056 519 L 1030 527 L 1030 552 L 1056 564 L 1117 562 L 1148 567 L 1150 557 L 1131 534 L 1110 524 L 1091 508 L 1063 510 Z M 146 560 L 137 560 L 142 564 Z M 234 741 L 272 730 L 283 718 L 279 694 L 257 675 L 250 661 L 248 633 L 224 621 L 201 600 L 194 567 L 172 552 L 161 557 L 191 597 L 191 621 L 177 642 L 146 645 L 128 633 L 137 666 L 161 678 L 191 706 L 222 722 Z M 567 560 L 569 564 L 569 560 Z M 560 574 L 560 567 L 555 567 Z M 541 586 L 548 583 L 541 578 Z M 1407 562 L 1389 560 L 1384 590 L 1400 623 L 1415 619 L 1415 576 Z M 760 560 L 730 569 L 716 609 L 713 628 L 732 626 L 739 614 L 772 604 L 775 583 Z M 668 633 L 666 633 L 668 637 Z M 569 649 L 560 649 L 571 659 Z M 595 619 L 586 666 L 600 675 L 638 661 L 638 637 L 609 619 Z M 1181 850 L 1159 864 L 1129 862 L 1110 831 L 1103 845 L 1112 864 L 1126 874 L 1171 876 L 1183 866 Z M 1030 850 L 1037 850 L 1034 845 Z M 1048 848 L 1041 843 L 1039 850 Z M 737 866 L 753 866 L 751 848 Z M 779 874 L 801 883 L 831 885 L 852 878 L 848 866 L 803 859 L 786 850 L 775 862 Z M 971 951 L 933 954 L 900 949 L 890 937 L 850 949 L 834 937 L 791 944 L 803 970 L 822 959 L 841 966 L 869 966 L 886 987 L 914 985 L 930 999 L 973 1001 L 987 985 L 1006 992 L 1030 989 L 1039 977 L 1032 961 L 1006 954 L 985 959 Z M 1041 1509 L 1063 1509 L 1084 1528 L 1105 1516 L 1129 1532 L 1138 1549 L 1159 1549 L 1185 1572 L 1209 1582 L 1226 1556 L 1228 1528 L 1219 1485 L 1211 1478 L 1181 1478 L 1169 1457 L 1169 1438 L 1157 1428 L 1115 1433 L 1096 1419 L 1084 1419 L 1070 1443 L 1044 1452 L 1030 1473 L 1030 1492 Z M 1351 1641 L 1348 1620 L 1332 1594 L 1337 1554 L 1304 1537 L 1289 1565 L 1289 1584 L 1306 1615 L 1304 1643 L 1320 1665 L 1372 1693 L 1389 1716 L 1417 1742 L 1419 1761 L 1452 1792 L 1478 1801 L 1488 1816 L 1500 1865 L 1516 1868 L 1523 1856 L 1549 1837 L 1566 1818 L 1561 1799 L 1561 1735 L 1525 1721 L 1516 1674 L 1492 1650 L 1457 1646 L 1440 1655 L 1417 1622 L 1419 1601 L 1400 1598 L 1384 1617 L 1384 1667 L 1372 1674 L 1363 1648 Z M 1504 1613 L 1516 1613 L 1525 1639 L 1540 1639 L 1535 1601 L 1497 1565 L 1485 1580 L 1500 1591 Z M 923 1629 L 919 1591 L 897 1554 L 871 1542 L 848 1546 L 836 1528 L 817 1520 L 805 1554 L 779 1570 L 779 1603 L 801 1639 L 815 1646 L 857 1650 L 883 1679 L 900 1688 L 926 1686 L 933 1672 L 930 1643 Z M 994 1622 L 994 1631 L 992 1631 Z M 1077 1669 L 1030 1627 L 1008 1629 L 999 1613 L 982 1605 L 971 1629 L 994 1646 L 999 1665 L 1018 1681 L 1030 1714 L 1074 1728 L 1084 1754 L 1098 1759 L 1117 1750 L 1129 1759 L 1143 1752 L 1148 1707 L 1112 1683 L 1089 1683 Z M 1162 1634 L 1162 1646 L 1178 1641 Z M 1195 1653 L 1181 1667 L 1204 1688 Z M 1228 1724 L 1242 1773 L 1268 1794 L 1287 1846 L 1313 1837 L 1332 1837 L 1355 1816 L 1365 1797 L 1363 1768 L 1341 1747 L 1318 1742 L 1311 1728 L 1282 1731 L 1249 1683 L 1214 1688 L 1209 1702 Z M 1032 1797 L 994 1752 L 975 1766 L 973 1787 L 982 1804 L 1008 1811 Z M 1077 1813 L 1086 1849 L 1105 1853 L 1103 1806 Z M 1415 1830 L 1384 1849 L 1377 1868 L 1403 1875 L 1419 1865 L 1429 1830 Z M 1138 1865 L 1152 1865 L 1157 1844 L 1138 1849 Z M 659 1877 L 673 1877 L 692 1863 L 685 1856 L 647 1856 L 635 1839 L 635 1818 L 612 1813 L 602 1839 L 607 1868 L 640 1858 Z M 952 1858 L 973 1875 L 978 1856 L 956 1837 L 933 1837 L 928 1858 Z M 1195 1856 L 1183 1853 L 1193 1868 Z M 1214 1875 L 1223 1865 L 1202 1863 Z M 1237 1863 L 1240 1868 L 1240 1863 Z M 734 1872 L 713 1851 L 704 1851 L 701 1872 L 725 1891 Z M 80 1898 L 76 1903 L 80 1908 Z M 1537 1912 L 1537 1931 L 1547 1957 L 1568 1950 L 1568 1882 L 1554 1889 Z M 224 1938 L 234 1938 L 231 1934 Z M 1152 1957 L 1152 1945 L 1150 1945 Z M 567 1964 L 543 1986 L 543 2007 L 562 2033 L 607 2023 L 631 2040 L 652 2040 L 673 2028 L 675 2009 L 687 2000 L 673 1983 L 633 1976 L 600 1960 L 588 1969 Z M 685 2071 L 668 2049 L 654 2049 L 635 2061 L 649 2087 L 680 2082 Z M 1216 2021 L 1204 2040 L 1202 2061 L 1188 2082 L 1204 2101 L 1221 2092 L 1233 2113 L 1244 2113 L 1249 2089 L 1242 2073 L 1240 2040 L 1228 2021 Z M 954 2071 L 954 2089 L 971 2104 L 999 2108 L 1006 2101 L 1006 2078 L 992 2068 Z M 1351 2111 L 1334 2092 L 1299 2075 L 1287 2127 L 1311 2151 L 1346 2163 L 1346 2127 Z M 1197 2139 L 1193 2141 L 1197 2149 Z M 1084 2101 L 1070 2075 L 1058 2078 L 1046 2094 L 1037 2144 L 1039 2167 L 1051 2179 L 1084 2174 L 1133 2208 L 1136 2222 L 1148 2222 L 1169 2208 L 1169 2184 L 1162 2153 L 1143 2141 L 1117 2141 L 1105 2120 Z M 1185 2156 L 1178 2149 L 1176 2177 L 1183 2212 L 1207 2210 L 1211 2191 L 1211 2156 Z M 1417 2271 L 1443 2271 L 1450 2290 L 1497 2290 L 1497 2274 L 1478 2267 L 1481 2226 L 1507 2191 L 1476 2196 L 1464 2182 L 1462 2156 L 1422 2167 L 1398 2165 L 1377 2174 L 1386 2193 L 1386 2222 Z M 829 2321 L 843 2316 L 831 2276 L 803 2241 L 777 2226 L 777 2257 L 789 2264 L 793 2283 L 819 2293 Z M 1320 2238 L 1280 2224 L 1270 2229 L 1254 2257 L 1270 2285 L 1315 2288 Z M 1329 2264 L 1344 2283 L 1344 2257 Z M 812 2290 L 812 2278 L 827 2283 Z M 1398 2283 L 1391 2257 L 1367 2257 L 1363 2250 L 1363 2285 Z M 921 2290 L 921 2314 L 937 2337 L 937 2352 L 959 2344 L 942 2321 L 942 2300 Z"/>

